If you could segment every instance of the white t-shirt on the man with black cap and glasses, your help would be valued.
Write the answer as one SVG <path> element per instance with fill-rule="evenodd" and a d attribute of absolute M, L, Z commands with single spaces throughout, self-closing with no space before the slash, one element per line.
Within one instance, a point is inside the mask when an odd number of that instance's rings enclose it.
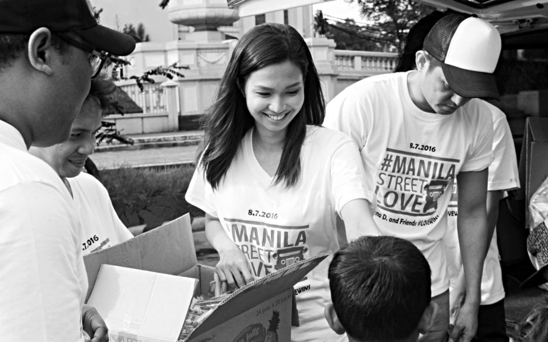
<path fill-rule="evenodd" d="M 81 341 L 81 227 L 61 179 L 0 121 L 0 340 Z"/>

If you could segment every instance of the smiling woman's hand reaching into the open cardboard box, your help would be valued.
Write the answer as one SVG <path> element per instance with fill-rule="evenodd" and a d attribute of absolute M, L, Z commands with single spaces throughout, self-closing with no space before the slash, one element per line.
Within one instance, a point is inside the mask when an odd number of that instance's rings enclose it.
<path fill-rule="evenodd" d="M 247 258 L 236 245 L 219 251 L 219 258 L 217 274 L 221 281 L 229 284 L 229 287 L 242 287 L 253 281 Z"/>

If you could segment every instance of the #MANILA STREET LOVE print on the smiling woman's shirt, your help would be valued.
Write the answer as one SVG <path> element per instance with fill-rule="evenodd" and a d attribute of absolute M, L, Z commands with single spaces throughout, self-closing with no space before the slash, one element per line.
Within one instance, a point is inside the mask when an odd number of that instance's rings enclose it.
<path fill-rule="evenodd" d="M 232 241 L 249 260 L 253 275 L 262 277 L 310 258 L 306 245 L 309 225 L 286 226 L 224 218 Z"/>

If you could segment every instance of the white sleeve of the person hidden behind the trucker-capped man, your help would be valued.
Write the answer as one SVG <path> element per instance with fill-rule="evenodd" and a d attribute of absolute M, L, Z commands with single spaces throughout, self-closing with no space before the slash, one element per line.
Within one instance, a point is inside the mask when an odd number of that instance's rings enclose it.
<path fill-rule="evenodd" d="M 513 190 L 520 187 L 518 178 L 516 148 L 512 132 L 504 113 L 494 107 L 499 114 L 493 122 L 493 163 L 489 165 L 487 190 Z"/>

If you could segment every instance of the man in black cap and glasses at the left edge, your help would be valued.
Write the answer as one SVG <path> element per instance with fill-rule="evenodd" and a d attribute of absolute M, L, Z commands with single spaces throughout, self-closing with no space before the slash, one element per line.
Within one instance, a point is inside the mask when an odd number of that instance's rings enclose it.
<path fill-rule="evenodd" d="M 134 47 L 85 0 L 0 0 L 0 340 L 105 337 L 70 194 L 27 149 L 66 140 L 105 53 Z"/>

